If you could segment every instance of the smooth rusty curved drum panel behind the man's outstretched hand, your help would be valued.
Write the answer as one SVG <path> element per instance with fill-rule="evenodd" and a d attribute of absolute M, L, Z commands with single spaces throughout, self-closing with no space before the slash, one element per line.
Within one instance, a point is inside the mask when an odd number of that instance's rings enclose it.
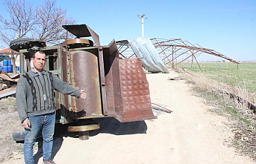
<path fill-rule="evenodd" d="M 99 79 L 99 57 L 85 50 L 72 50 L 69 53 L 70 83 L 75 88 L 83 88 L 87 99 L 72 99 L 74 119 L 102 115 L 102 101 Z M 69 96 L 70 97 L 70 96 Z"/>

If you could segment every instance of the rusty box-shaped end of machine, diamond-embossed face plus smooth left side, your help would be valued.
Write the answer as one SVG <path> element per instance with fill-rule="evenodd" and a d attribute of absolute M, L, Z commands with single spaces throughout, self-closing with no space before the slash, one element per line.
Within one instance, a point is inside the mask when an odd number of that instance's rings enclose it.
<path fill-rule="evenodd" d="M 114 103 L 109 115 L 120 122 L 155 119 L 152 114 L 149 83 L 138 59 L 116 59 L 118 68 L 112 70 L 113 88 L 108 88 Z M 107 84 L 109 86 L 109 84 Z M 112 90 L 112 91 L 111 91 Z"/>

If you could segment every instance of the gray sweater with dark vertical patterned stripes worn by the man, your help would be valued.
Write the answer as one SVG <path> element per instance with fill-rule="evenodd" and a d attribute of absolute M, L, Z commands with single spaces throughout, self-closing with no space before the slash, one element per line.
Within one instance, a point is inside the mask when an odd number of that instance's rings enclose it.
<path fill-rule="evenodd" d="M 28 71 L 19 78 L 16 87 L 16 105 L 19 119 L 49 114 L 55 111 L 54 90 L 70 96 L 81 96 L 81 91 L 61 81 L 54 73 L 43 70 L 41 74 Z"/>

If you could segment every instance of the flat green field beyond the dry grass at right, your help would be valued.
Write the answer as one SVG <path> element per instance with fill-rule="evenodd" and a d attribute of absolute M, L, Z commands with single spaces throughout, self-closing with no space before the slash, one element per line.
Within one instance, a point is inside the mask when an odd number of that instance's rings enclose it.
<path fill-rule="evenodd" d="M 181 63 L 178 67 L 195 73 L 203 73 L 210 79 L 238 86 L 256 94 L 255 62 L 242 62 L 240 64 L 234 64 L 233 62 L 200 62 L 199 65 L 197 63 L 193 63 L 193 65 L 191 63 Z"/>

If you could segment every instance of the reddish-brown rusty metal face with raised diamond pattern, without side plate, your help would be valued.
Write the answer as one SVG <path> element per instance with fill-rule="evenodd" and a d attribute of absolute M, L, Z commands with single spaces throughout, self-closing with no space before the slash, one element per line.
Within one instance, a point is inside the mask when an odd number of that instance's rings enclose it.
<path fill-rule="evenodd" d="M 122 95 L 122 111 L 119 112 L 121 122 L 155 119 L 151 108 L 149 82 L 140 60 L 119 59 L 119 74 Z"/>

